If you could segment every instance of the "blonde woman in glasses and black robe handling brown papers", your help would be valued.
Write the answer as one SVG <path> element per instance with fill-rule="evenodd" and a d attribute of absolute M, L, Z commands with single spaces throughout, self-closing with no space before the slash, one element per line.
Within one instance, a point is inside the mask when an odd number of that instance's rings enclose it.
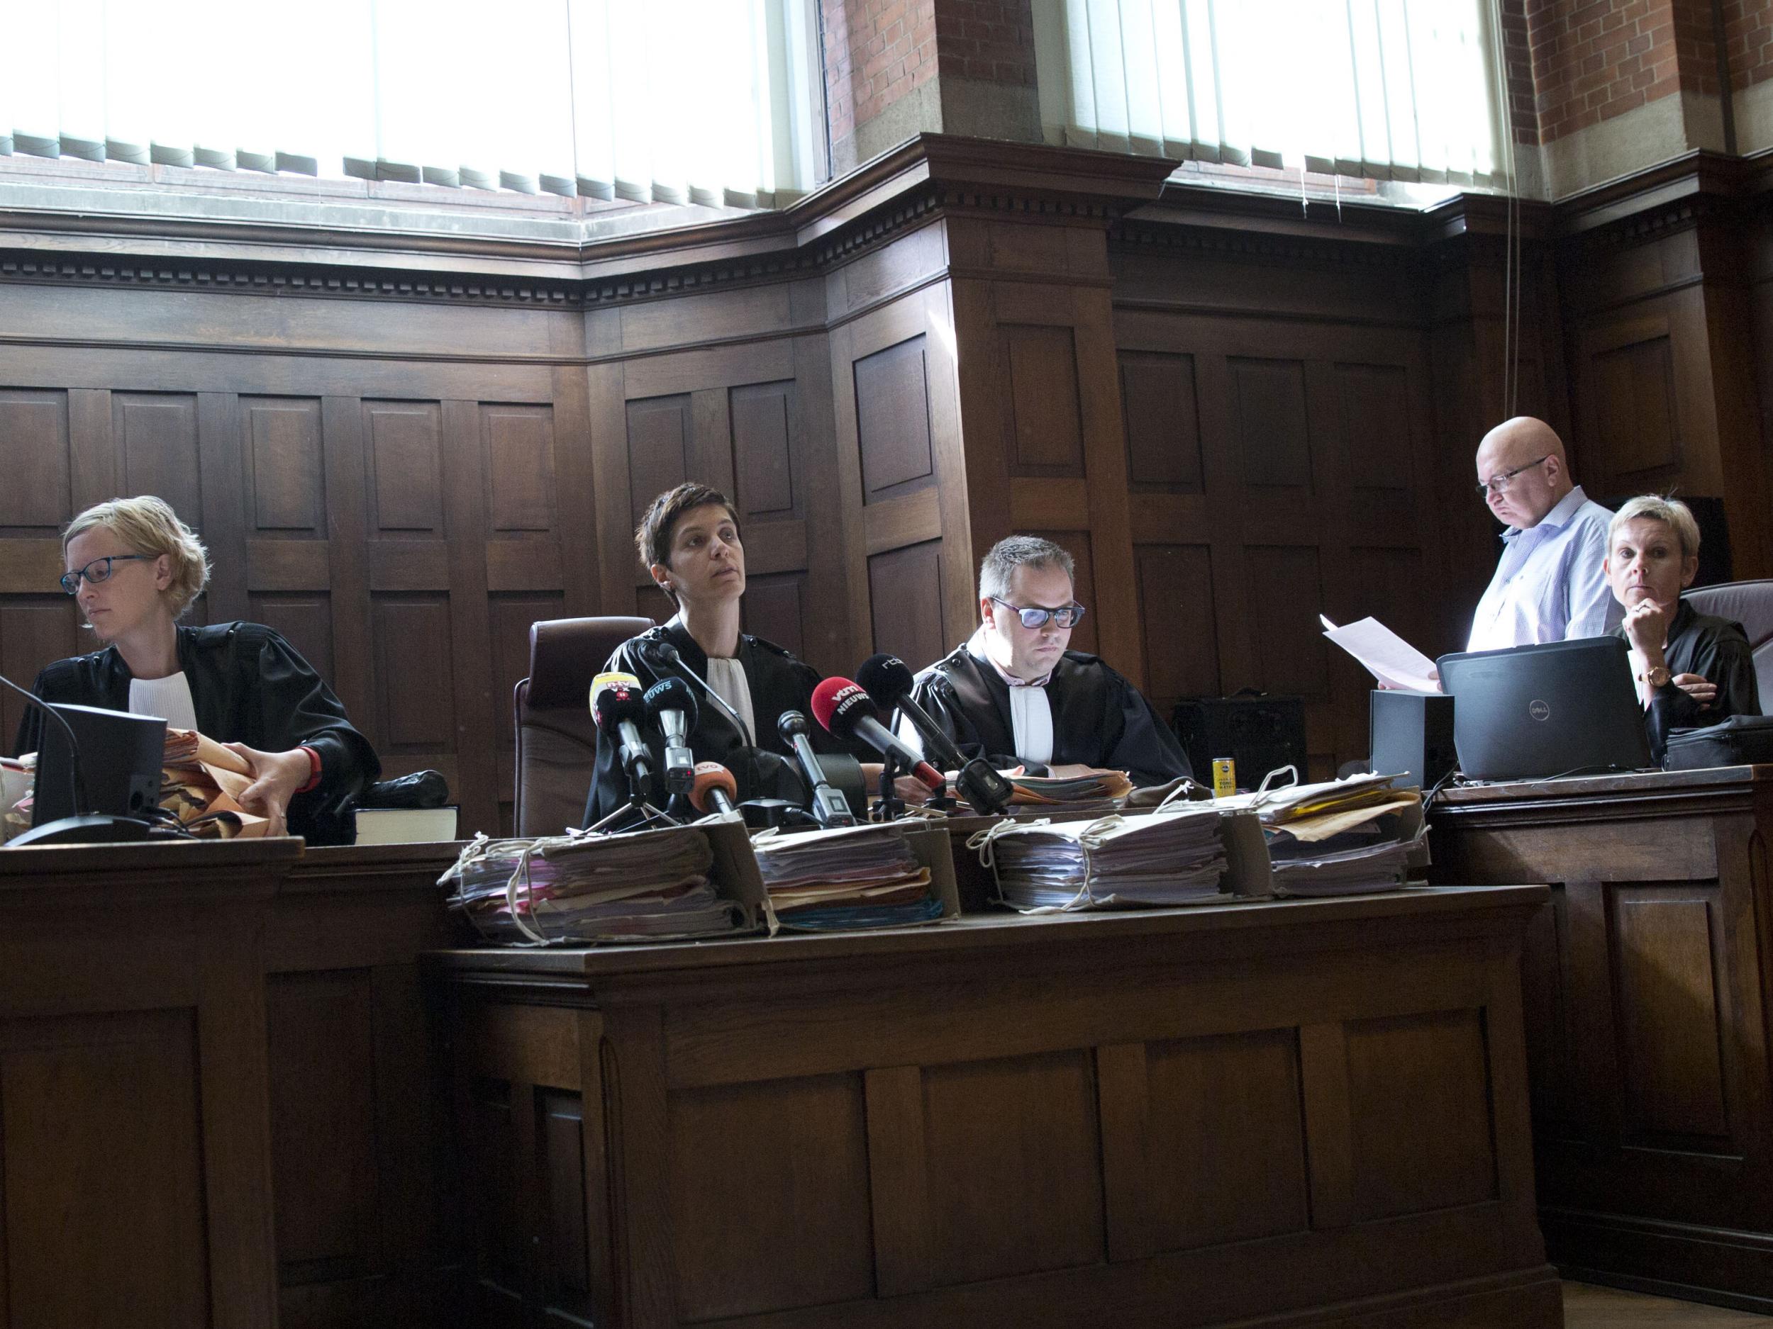
<path fill-rule="evenodd" d="M 241 806 L 273 831 L 348 843 L 346 803 L 381 773 L 369 741 L 309 663 L 264 624 L 179 626 L 209 579 L 202 542 L 158 498 L 87 509 L 62 537 L 62 588 L 105 643 L 46 666 L 44 702 L 165 716 L 239 753 L 254 781 Z M 27 711 L 16 751 L 35 751 Z"/>

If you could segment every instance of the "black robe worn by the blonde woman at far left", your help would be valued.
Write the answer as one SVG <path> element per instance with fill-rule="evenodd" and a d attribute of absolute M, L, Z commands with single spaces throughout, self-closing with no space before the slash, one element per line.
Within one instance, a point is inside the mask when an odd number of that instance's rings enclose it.
<path fill-rule="evenodd" d="M 344 804 L 381 774 L 381 762 L 332 688 L 264 624 L 179 627 L 177 634 L 197 728 L 216 742 L 245 742 L 259 751 L 305 746 L 319 753 L 321 783 L 289 801 L 289 833 L 316 845 L 349 843 Z M 44 702 L 128 711 L 131 677 L 117 647 L 105 647 L 55 661 L 32 691 Z M 37 750 L 43 723 L 43 712 L 25 712 L 16 751 Z"/>

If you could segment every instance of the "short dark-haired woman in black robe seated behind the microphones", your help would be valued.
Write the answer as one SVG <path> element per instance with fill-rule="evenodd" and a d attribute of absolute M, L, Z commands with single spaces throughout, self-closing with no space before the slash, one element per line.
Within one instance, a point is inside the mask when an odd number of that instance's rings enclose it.
<path fill-rule="evenodd" d="M 605 672 L 631 673 L 642 689 L 661 679 L 684 679 L 699 703 L 695 728 L 688 735 L 697 762 L 720 762 L 730 769 L 741 799 L 801 801 L 805 787 L 794 753 L 777 732 L 777 719 L 785 711 L 808 718 L 808 737 L 821 755 L 865 755 L 865 750 L 833 737 L 812 719 L 812 689 L 819 673 L 810 664 L 773 641 L 739 631 L 745 544 L 725 494 L 700 484 L 681 484 L 660 494 L 635 532 L 635 544 L 660 590 L 677 602 L 677 617 L 619 645 Z M 677 649 L 688 673 L 661 657 L 661 645 Z M 707 700 L 702 682 L 739 714 L 739 725 Z M 647 801 L 665 806 L 658 735 L 649 737 L 647 746 L 654 771 Z M 617 744 L 599 734 L 585 826 L 596 826 L 628 801 L 628 776 Z"/>

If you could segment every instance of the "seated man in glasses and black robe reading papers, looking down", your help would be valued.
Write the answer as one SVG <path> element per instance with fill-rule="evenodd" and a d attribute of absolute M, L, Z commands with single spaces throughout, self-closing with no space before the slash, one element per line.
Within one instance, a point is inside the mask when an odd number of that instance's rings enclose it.
<path fill-rule="evenodd" d="M 1191 774 L 1170 727 L 1096 656 L 1066 650 L 1083 617 L 1073 560 L 1032 535 L 998 540 L 979 569 L 979 631 L 924 670 L 915 700 L 961 755 L 1000 769 L 1126 771 L 1135 785 Z"/>

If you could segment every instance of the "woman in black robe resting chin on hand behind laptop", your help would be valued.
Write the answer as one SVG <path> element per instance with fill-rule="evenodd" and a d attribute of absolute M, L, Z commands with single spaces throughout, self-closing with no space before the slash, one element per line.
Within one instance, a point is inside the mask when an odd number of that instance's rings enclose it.
<path fill-rule="evenodd" d="M 1606 579 L 1626 606 L 1613 629 L 1631 649 L 1651 753 L 1668 734 L 1759 716 L 1755 659 L 1741 624 L 1699 613 L 1681 592 L 1699 572 L 1699 523 L 1686 503 L 1645 494 L 1621 505 L 1606 532 Z"/>

